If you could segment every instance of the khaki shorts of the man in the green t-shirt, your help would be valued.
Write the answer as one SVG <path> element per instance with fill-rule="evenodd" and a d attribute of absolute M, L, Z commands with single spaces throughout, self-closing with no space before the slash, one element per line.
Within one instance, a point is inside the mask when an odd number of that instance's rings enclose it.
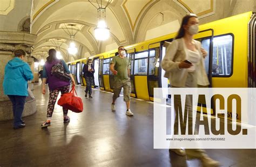
<path fill-rule="evenodd" d="M 124 81 L 114 81 L 113 101 L 116 101 L 116 99 L 119 97 L 122 88 L 124 88 L 124 101 L 131 100 L 131 81 L 130 79 L 127 79 Z"/>

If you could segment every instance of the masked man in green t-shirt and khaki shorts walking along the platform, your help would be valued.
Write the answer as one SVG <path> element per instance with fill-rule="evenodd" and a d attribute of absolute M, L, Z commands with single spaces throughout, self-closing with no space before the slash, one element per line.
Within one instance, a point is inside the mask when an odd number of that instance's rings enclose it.
<path fill-rule="evenodd" d="M 114 95 L 111 110 L 116 111 L 114 103 L 119 97 L 122 88 L 124 88 L 124 101 L 126 102 L 127 107 L 126 115 L 132 116 L 133 113 L 130 110 L 131 81 L 129 59 L 126 57 L 125 48 L 123 46 L 118 47 L 118 55 L 114 56 L 110 62 L 110 70 L 114 75 Z"/>

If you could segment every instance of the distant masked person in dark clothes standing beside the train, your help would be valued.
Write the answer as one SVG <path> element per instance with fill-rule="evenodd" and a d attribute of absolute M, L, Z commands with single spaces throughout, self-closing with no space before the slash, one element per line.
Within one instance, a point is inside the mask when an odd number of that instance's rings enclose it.
<path fill-rule="evenodd" d="M 86 82 L 85 97 L 89 93 L 89 98 L 92 98 L 92 85 L 94 84 L 94 66 L 92 64 L 92 59 L 87 61 L 87 64 L 83 67 L 84 78 Z"/>

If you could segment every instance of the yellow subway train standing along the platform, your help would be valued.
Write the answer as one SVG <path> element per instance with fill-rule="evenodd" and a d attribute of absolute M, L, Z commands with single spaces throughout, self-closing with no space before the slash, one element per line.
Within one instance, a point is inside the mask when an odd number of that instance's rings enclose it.
<path fill-rule="evenodd" d="M 206 71 L 213 88 L 255 88 L 255 23 L 256 14 L 242 13 L 237 16 L 213 21 L 199 26 L 194 36 L 207 50 Z M 153 101 L 153 88 L 167 88 L 167 78 L 161 69 L 165 56 L 165 41 L 172 41 L 176 33 L 125 46 L 131 64 L 131 96 Z M 113 91 L 113 75 L 110 61 L 116 50 L 90 57 L 95 66 L 95 87 Z M 68 67 L 78 85 L 85 85 L 82 69 L 87 59 L 68 62 Z"/>

